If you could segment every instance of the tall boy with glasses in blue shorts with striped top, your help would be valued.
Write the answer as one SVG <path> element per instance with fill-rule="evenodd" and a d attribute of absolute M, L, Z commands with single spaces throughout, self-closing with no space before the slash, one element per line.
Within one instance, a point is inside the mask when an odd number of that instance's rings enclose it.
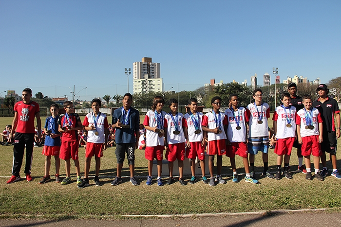
<path fill-rule="evenodd" d="M 254 164 L 255 155 L 258 151 L 263 153 L 264 171 L 263 176 L 273 179 L 274 176 L 268 171 L 268 155 L 269 150 L 269 133 L 267 119 L 270 117 L 269 105 L 262 101 L 263 91 L 259 88 L 253 91 L 254 103 L 250 103 L 246 108 L 250 111 L 250 119 L 248 123 L 248 153 L 250 154 L 250 171 L 251 177 L 255 178 Z"/>

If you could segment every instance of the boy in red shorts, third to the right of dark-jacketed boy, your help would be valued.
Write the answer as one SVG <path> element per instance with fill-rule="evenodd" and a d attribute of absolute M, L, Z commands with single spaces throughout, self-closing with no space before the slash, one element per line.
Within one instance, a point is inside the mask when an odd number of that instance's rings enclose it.
<path fill-rule="evenodd" d="M 203 131 L 201 123 L 203 122 L 204 115 L 197 112 L 198 101 L 195 98 L 189 100 L 190 112 L 186 113 L 184 118 L 184 133 L 187 140 L 186 157 L 190 159 L 190 171 L 192 177 L 189 184 L 194 184 L 197 179 L 195 177 L 195 158 L 200 160 L 200 168 L 202 173 L 201 180 L 208 184 L 208 179 L 205 176 L 205 137 L 206 131 Z"/>

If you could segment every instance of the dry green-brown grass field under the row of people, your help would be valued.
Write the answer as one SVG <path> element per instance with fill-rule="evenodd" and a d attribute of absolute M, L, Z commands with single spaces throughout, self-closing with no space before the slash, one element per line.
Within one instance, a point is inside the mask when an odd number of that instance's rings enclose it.
<path fill-rule="evenodd" d="M 83 120 L 84 117 L 82 117 Z M 141 121 L 143 121 L 141 118 Z M 11 123 L 12 118 L 0 118 L 0 128 Z M 45 118 L 42 118 L 42 123 Z M 111 117 L 109 117 L 111 122 Z M 272 123 L 271 123 L 272 124 Z M 34 148 L 32 176 L 34 180 L 27 182 L 21 180 L 13 184 L 6 184 L 11 175 L 13 161 L 13 146 L 1 146 L 0 154 L 0 214 L 25 215 L 38 214 L 43 218 L 101 218 L 102 215 L 135 214 L 188 214 L 188 213 L 219 213 L 242 212 L 278 209 L 313 209 L 313 208 L 339 208 L 341 207 L 341 180 L 328 176 L 324 181 L 314 179 L 307 181 L 305 175 L 292 173 L 293 179 L 271 180 L 260 179 L 260 184 L 252 185 L 242 180 L 232 183 L 230 162 L 223 158 L 223 178 L 227 184 L 215 187 L 197 182 L 193 185 L 181 186 L 178 182 L 168 186 L 158 187 L 155 181 L 152 186 L 147 186 L 148 175 L 147 160 L 144 152 L 137 150 L 136 175 L 139 176 L 141 185 L 133 186 L 126 178 L 122 184 L 111 186 L 116 171 L 115 148 L 104 151 L 101 162 L 102 187 L 96 187 L 91 179 L 90 187 L 78 189 L 76 177 L 69 185 L 56 184 L 54 181 L 39 185 L 38 181 L 44 175 L 44 156 L 41 155 L 42 147 Z M 84 148 L 79 149 L 79 162 L 81 172 L 84 170 Z M 94 176 L 95 160 L 93 159 L 90 176 Z M 236 157 L 238 173 L 244 173 L 242 158 Z M 298 159 L 296 149 L 291 157 L 291 170 L 297 169 Z M 256 156 L 255 166 L 263 166 L 262 156 Z M 338 161 L 341 166 L 341 161 Z M 23 163 L 24 167 L 24 163 Z M 23 167 L 21 177 L 24 177 Z M 269 152 L 269 168 L 276 170 L 276 155 L 273 150 Z M 331 163 L 328 161 L 328 168 Z M 74 168 L 71 169 L 75 173 Z M 261 172 L 262 168 L 255 168 Z M 197 174 L 199 174 L 197 170 Z M 54 175 L 54 160 L 52 160 L 51 175 Z M 60 174 L 65 176 L 64 161 L 61 160 Z M 123 176 L 129 176 L 128 165 L 123 166 Z M 189 181 L 190 176 L 186 177 Z M 339 210 L 339 209 L 337 209 Z M 20 216 L 21 217 L 21 216 Z"/>

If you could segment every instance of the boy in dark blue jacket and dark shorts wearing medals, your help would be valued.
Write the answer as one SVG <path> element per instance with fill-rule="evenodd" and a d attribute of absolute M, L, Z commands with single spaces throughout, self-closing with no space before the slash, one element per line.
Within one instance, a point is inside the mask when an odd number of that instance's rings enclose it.
<path fill-rule="evenodd" d="M 122 182 L 121 172 L 125 154 L 129 161 L 130 182 L 133 185 L 139 183 L 134 177 L 135 170 L 135 149 L 138 146 L 140 136 L 140 113 L 132 107 L 133 96 L 130 93 L 124 94 L 122 100 L 123 106 L 115 109 L 112 120 L 112 126 L 116 129 L 116 159 L 117 159 L 117 176 L 111 185 L 117 185 Z"/>

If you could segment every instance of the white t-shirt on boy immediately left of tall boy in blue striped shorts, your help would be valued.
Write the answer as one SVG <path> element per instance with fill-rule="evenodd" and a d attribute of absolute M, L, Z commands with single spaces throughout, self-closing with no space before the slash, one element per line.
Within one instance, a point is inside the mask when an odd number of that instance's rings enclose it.
<path fill-rule="evenodd" d="M 237 129 L 236 127 L 237 122 L 236 119 L 233 116 L 236 117 L 238 121 L 238 116 L 239 116 L 239 127 L 240 129 Z M 227 139 L 230 142 L 245 142 L 246 141 L 246 125 L 245 123 L 249 121 L 250 118 L 250 112 L 246 111 L 244 107 L 239 107 L 237 111 L 233 111 L 228 108 L 225 110 L 225 114 L 227 116 Z"/>

